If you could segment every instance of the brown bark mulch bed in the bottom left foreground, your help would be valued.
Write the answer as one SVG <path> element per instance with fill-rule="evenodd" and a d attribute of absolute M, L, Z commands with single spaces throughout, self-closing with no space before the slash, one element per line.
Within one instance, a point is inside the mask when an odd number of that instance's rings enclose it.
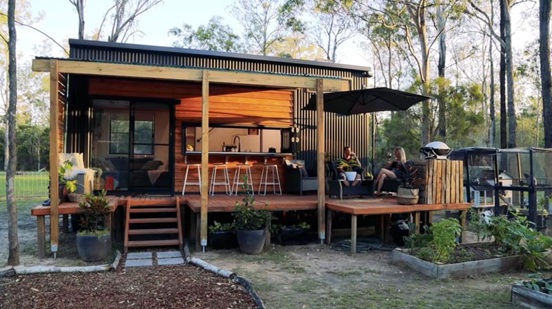
<path fill-rule="evenodd" d="M 0 308 L 256 308 L 230 279 L 195 266 L 0 277 Z"/>

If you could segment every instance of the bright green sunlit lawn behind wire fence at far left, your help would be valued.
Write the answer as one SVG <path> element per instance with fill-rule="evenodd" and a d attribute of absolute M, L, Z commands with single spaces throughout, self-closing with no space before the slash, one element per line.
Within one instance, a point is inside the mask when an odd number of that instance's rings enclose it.
<path fill-rule="evenodd" d="M 50 174 L 43 172 L 22 172 L 21 175 L 15 175 L 15 196 L 17 200 L 48 198 L 48 184 Z M 6 200 L 6 172 L 0 171 L 0 202 Z"/>

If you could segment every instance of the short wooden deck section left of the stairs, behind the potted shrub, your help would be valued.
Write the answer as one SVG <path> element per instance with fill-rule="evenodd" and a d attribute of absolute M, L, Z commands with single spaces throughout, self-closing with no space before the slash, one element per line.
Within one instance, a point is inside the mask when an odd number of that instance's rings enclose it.
<path fill-rule="evenodd" d="M 117 209 L 117 206 L 119 205 L 119 198 L 115 196 L 109 197 L 109 198 L 110 198 L 110 201 L 109 201 L 110 212 L 114 213 L 115 209 Z M 79 213 L 83 213 L 83 209 L 79 207 L 79 203 L 73 203 L 73 202 L 63 202 L 59 204 L 59 206 L 57 206 L 57 211 L 59 215 L 63 215 L 64 229 L 68 224 L 67 222 L 68 215 L 77 215 Z M 50 206 L 38 205 L 33 209 L 31 209 L 30 214 L 37 216 L 38 253 L 39 253 L 39 258 L 43 259 L 44 257 L 46 257 L 46 216 L 50 215 Z M 108 224 L 111 226 L 112 215 L 109 216 L 108 220 L 109 220 Z"/>

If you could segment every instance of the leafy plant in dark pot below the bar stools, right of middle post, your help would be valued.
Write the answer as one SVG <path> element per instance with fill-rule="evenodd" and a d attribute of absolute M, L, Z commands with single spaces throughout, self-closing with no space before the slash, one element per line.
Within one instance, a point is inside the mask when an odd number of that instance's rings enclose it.
<path fill-rule="evenodd" d="M 236 202 L 233 216 L 235 218 L 236 236 L 239 250 L 246 254 L 258 254 L 263 251 L 266 235 L 266 222 L 270 220 L 270 212 L 255 209 L 255 198 L 246 185 L 244 177 L 242 188 L 246 190 L 243 204 Z"/>

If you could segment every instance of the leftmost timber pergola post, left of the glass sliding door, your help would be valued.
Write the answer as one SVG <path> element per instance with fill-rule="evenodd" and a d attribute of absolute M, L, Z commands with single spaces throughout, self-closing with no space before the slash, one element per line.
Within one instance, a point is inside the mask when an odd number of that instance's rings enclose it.
<path fill-rule="evenodd" d="M 56 257 L 59 244 L 59 179 L 57 176 L 57 145 L 59 134 L 59 72 L 57 60 L 50 61 L 50 250 Z"/>

